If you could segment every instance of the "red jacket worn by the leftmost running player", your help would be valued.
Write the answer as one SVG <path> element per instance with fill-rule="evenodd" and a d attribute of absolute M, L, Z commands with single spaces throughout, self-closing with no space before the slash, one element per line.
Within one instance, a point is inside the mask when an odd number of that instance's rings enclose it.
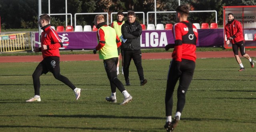
<path fill-rule="evenodd" d="M 59 48 L 62 47 L 62 42 L 57 32 L 51 28 L 50 24 L 44 26 L 42 30 L 44 32 L 41 34 L 41 45 L 47 45 L 47 50 L 43 50 L 41 47 L 43 58 L 49 56 L 60 57 Z"/>

